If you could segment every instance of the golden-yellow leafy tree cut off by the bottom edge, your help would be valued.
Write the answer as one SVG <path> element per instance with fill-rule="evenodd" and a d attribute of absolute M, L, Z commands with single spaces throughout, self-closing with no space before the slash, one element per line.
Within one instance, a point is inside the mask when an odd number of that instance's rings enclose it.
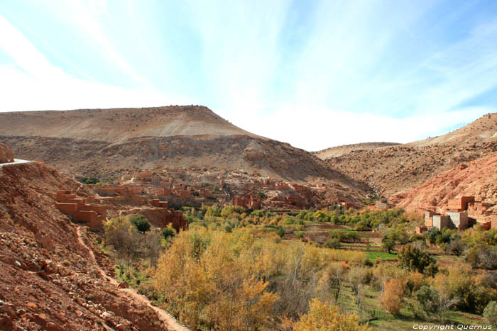
<path fill-rule="evenodd" d="M 317 298 L 312 299 L 309 313 L 295 323 L 295 331 L 368 331 L 367 325 L 359 325 L 356 314 L 340 314 L 339 308 L 328 305 Z"/>

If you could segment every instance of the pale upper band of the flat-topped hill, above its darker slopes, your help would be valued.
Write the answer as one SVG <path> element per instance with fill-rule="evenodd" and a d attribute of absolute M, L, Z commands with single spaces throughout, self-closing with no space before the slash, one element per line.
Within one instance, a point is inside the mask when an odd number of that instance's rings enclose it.
<path fill-rule="evenodd" d="M 202 106 L 0 113 L 0 135 L 124 142 L 139 137 L 249 135 Z M 259 137 L 261 138 L 261 137 Z"/>

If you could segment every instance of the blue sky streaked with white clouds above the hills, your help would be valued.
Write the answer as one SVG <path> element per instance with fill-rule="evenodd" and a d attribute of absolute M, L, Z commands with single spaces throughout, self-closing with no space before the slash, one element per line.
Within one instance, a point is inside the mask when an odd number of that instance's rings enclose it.
<path fill-rule="evenodd" d="M 190 104 L 310 151 L 447 133 L 496 112 L 497 1 L 0 1 L 0 111 Z"/>

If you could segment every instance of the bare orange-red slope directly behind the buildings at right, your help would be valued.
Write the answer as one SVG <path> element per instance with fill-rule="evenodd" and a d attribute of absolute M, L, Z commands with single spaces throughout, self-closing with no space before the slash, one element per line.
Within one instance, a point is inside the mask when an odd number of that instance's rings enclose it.
<path fill-rule="evenodd" d="M 407 211 L 422 212 L 444 208 L 447 200 L 457 195 L 497 203 L 497 153 L 459 164 L 408 192 L 395 194 L 391 201 Z"/>

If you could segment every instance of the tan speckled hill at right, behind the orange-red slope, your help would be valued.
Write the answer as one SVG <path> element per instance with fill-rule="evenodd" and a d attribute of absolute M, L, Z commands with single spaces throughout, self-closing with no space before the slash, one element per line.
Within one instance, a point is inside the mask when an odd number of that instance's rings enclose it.
<path fill-rule="evenodd" d="M 330 167 L 363 181 L 378 194 L 410 191 L 433 176 L 497 151 L 497 114 L 435 138 L 327 159 Z"/>

